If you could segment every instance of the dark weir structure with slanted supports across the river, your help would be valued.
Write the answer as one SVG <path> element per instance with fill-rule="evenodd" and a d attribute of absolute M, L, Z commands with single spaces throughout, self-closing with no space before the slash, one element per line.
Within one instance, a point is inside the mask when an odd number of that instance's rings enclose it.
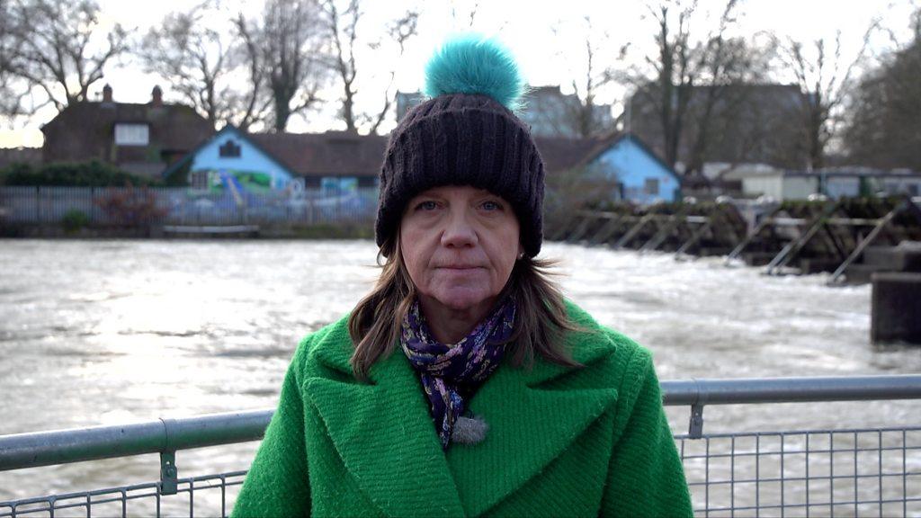
<path fill-rule="evenodd" d="M 869 282 L 868 252 L 921 241 L 921 198 L 791 201 L 752 210 L 739 200 L 615 204 L 549 222 L 557 241 L 767 265 L 767 275 L 830 272 L 830 285 Z M 914 267 L 914 266 L 913 266 Z M 903 270 L 912 271 L 912 270 Z"/>

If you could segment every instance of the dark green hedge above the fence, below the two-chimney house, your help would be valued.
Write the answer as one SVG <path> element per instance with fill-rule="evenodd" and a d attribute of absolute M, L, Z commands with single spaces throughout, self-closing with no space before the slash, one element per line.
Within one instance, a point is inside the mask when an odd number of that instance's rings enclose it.
<path fill-rule="evenodd" d="M 32 166 L 11 164 L 0 171 L 0 184 L 68 187 L 122 187 L 124 185 L 155 186 L 160 182 L 122 171 L 109 164 L 88 162 L 58 162 Z"/>

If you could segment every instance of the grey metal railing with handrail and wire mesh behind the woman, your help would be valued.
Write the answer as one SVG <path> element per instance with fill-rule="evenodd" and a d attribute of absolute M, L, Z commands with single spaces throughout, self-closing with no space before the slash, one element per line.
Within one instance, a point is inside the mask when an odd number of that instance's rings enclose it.
<path fill-rule="evenodd" d="M 921 426 L 852 430 L 785 430 L 705 434 L 704 408 L 713 405 L 921 399 L 921 375 L 775 378 L 662 382 L 667 406 L 691 406 L 689 430 L 675 435 L 694 511 L 740 515 L 786 512 L 921 515 Z M 161 499 L 220 494 L 239 486 L 245 471 L 178 477 L 176 452 L 256 441 L 272 410 L 158 419 L 122 426 L 0 436 L 0 471 L 145 453 L 160 454 L 160 480 L 147 484 L 0 501 L 0 518 L 54 516 L 79 510 L 103 514 L 161 514 Z M 921 423 L 919 423 L 921 424 Z M 197 491 L 197 493 L 196 493 Z M 138 500 L 154 500 L 145 512 Z M 128 502 L 133 507 L 129 512 Z M 99 512 L 97 512 L 99 514 Z"/>

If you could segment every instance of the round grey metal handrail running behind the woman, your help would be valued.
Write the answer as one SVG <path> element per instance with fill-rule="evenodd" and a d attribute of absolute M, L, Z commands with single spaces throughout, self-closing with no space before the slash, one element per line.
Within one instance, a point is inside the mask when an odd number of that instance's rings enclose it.
<path fill-rule="evenodd" d="M 662 382 L 663 403 L 705 405 L 921 399 L 921 375 Z M 256 441 L 274 410 L 0 436 L 0 471 Z M 703 425 L 700 417 L 700 425 Z M 696 429 L 697 434 L 700 430 Z"/>

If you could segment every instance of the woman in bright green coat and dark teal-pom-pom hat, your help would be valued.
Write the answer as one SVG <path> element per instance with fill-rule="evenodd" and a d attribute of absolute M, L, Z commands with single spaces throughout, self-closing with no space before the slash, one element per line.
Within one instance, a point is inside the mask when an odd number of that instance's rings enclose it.
<path fill-rule="evenodd" d="M 297 347 L 235 516 L 691 514 L 649 353 L 535 259 L 522 89 L 494 41 L 429 62 L 380 172 L 379 282 Z"/>

